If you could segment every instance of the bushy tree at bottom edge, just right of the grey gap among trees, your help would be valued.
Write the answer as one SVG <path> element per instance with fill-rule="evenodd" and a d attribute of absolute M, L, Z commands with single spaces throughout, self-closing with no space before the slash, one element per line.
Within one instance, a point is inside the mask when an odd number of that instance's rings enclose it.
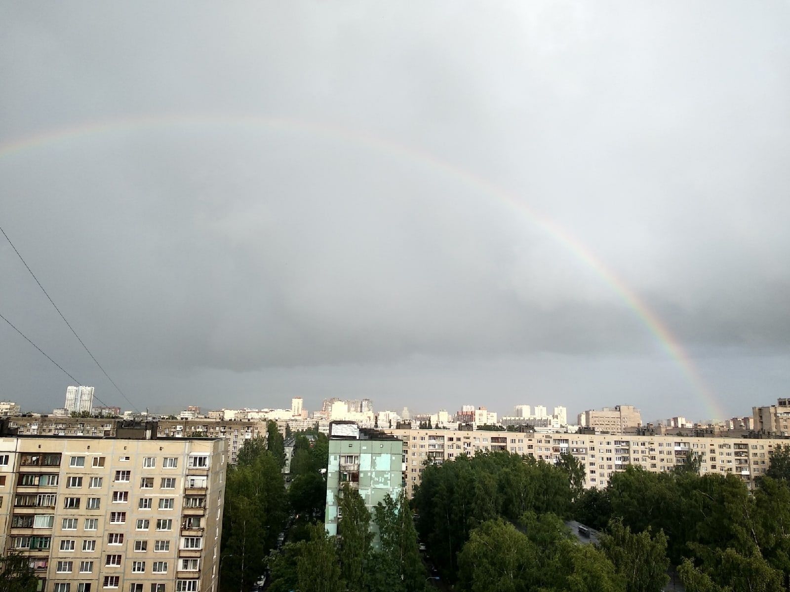
<path fill-rule="evenodd" d="M 598 538 L 615 569 L 626 579 L 626 592 L 660 592 L 669 581 L 667 537 L 663 531 L 650 536 L 650 529 L 634 534 L 623 521 L 612 520 Z"/>

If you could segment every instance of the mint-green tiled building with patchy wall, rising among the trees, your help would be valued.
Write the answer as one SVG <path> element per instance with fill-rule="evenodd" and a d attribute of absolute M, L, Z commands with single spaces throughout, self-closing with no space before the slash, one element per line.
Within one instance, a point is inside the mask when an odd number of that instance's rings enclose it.
<path fill-rule="evenodd" d="M 378 430 L 360 429 L 350 422 L 329 425 L 325 521 L 329 534 L 337 534 L 337 507 L 340 488 L 345 482 L 359 490 L 371 515 L 388 493 L 393 497 L 400 495 L 403 451 L 402 440 Z M 372 520 L 371 527 L 374 528 Z"/>

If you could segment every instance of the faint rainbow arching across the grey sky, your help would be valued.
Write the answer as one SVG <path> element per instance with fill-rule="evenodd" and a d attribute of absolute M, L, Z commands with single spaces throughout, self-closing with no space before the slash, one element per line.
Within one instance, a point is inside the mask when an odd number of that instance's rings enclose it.
<path fill-rule="evenodd" d="M 72 141 L 77 138 L 101 135 L 105 133 L 119 133 L 124 131 L 136 132 L 140 129 L 174 127 L 174 126 L 252 126 L 264 127 L 271 130 L 280 130 L 287 133 L 304 132 L 319 136 L 329 137 L 334 140 L 346 141 L 352 144 L 374 148 L 379 152 L 389 153 L 401 159 L 411 160 L 421 165 L 427 165 L 433 170 L 457 181 L 463 182 L 474 189 L 491 197 L 495 197 L 513 209 L 519 215 L 528 218 L 540 227 L 559 244 L 564 246 L 581 263 L 585 264 L 607 283 L 611 290 L 623 300 L 634 312 L 645 328 L 660 343 L 662 349 L 678 365 L 687 382 L 699 395 L 712 418 L 725 418 L 726 414 L 711 389 L 705 384 L 698 369 L 694 366 L 689 354 L 678 339 L 672 335 L 666 324 L 649 308 L 638 294 L 612 272 L 595 253 L 581 241 L 571 235 L 566 229 L 555 223 L 554 220 L 536 212 L 528 204 L 521 201 L 515 194 L 495 185 L 479 175 L 473 174 L 454 166 L 446 160 L 438 158 L 431 152 L 424 151 L 395 141 L 373 136 L 359 130 L 332 126 L 325 123 L 306 122 L 292 118 L 274 118 L 258 115 L 214 115 L 214 114 L 162 114 L 162 115 L 136 115 L 123 118 L 81 122 L 73 126 L 58 129 L 47 129 L 24 137 L 17 137 L 0 142 L 0 159 L 7 158 L 20 152 L 42 148 L 52 144 Z"/>

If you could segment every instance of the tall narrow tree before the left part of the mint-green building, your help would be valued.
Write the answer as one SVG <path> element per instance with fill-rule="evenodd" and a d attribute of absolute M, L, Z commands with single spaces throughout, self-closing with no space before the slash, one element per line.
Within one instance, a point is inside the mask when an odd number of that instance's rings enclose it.
<path fill-rule="evenodd" d="M 340 520 L 337 534 L 340 541 L 340 573 L 349 592 L 361 592 L 365 584 L 365 562 L 371 553 L 371 512 L 359 491 L 344 483 L 340 490 Z"/>

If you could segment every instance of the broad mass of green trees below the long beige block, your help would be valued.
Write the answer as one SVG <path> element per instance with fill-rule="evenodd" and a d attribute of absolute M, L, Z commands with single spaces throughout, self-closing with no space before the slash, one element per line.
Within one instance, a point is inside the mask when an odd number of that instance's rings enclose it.
<path fill-rule="evenodd" d="M 750 492 L 734 474 L 630 466 L 607 489 L 583 489 L 584 467 L 508 452 L 428 465 L 417 528 L 459 589 L 658 592 L 677 566 L 688 592 L 779 592 L 790 583 L 790 448 Z M 602 529 L 579 545 L 563 519 Z"/>

